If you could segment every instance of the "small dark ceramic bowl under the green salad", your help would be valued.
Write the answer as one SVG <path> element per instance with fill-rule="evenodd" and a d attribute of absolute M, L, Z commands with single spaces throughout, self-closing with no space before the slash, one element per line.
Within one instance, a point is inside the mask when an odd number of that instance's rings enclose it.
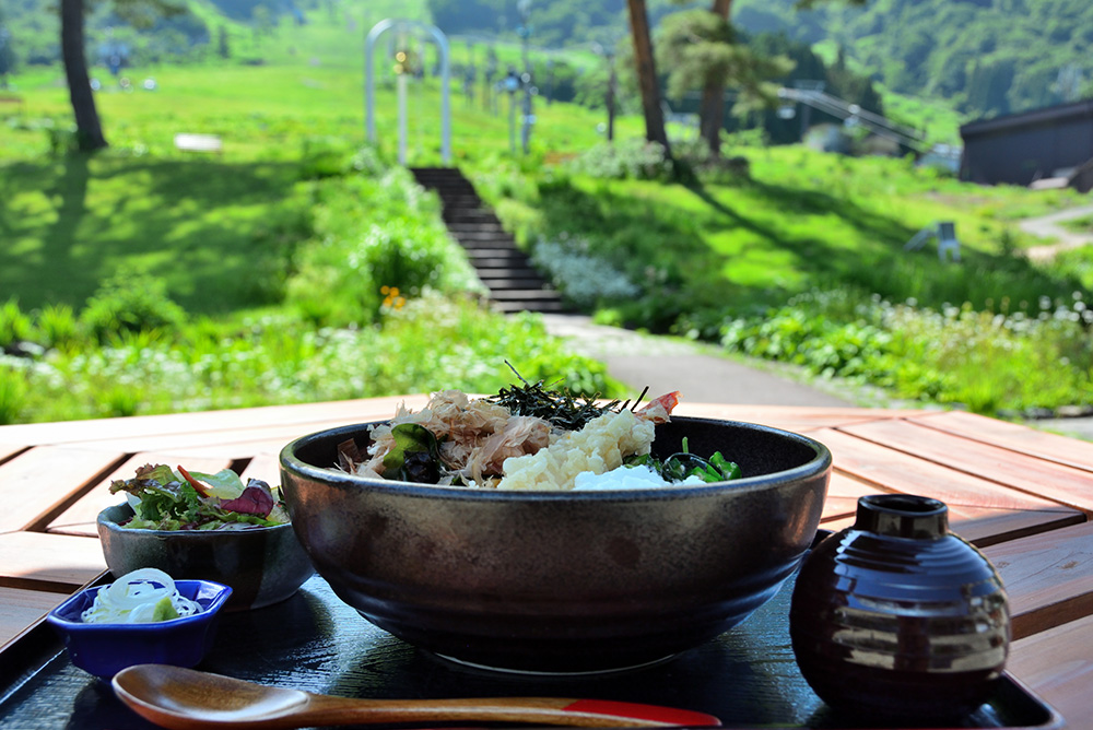
<path fill-rule="evenodd" d="M 115 578 L 160 568 L 175 580 L 212 580 L 232 587 L 227 610 L 283 601 L 314 573 L 291 525 L 246 530 L 137 530 L 121 527 L 127 505 L 98 514 L 98 538 Z"/>

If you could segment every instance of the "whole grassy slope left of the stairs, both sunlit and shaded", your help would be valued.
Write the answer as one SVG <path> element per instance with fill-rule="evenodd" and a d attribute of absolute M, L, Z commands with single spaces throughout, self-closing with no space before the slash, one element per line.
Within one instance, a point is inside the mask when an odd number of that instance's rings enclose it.
<path fill-rule="evenodd" d="M 80 306 L 121 262 L 156 271 L 195 311 L 223 313 L 263 304 L 262 271 L 271 226 L 304 215 L 301 162 L 316 150 L 364 145 L 365 95 L 360 25 L 320 25 L 306 38 L 315 52 L 265 66 L 129 69 L 136 91 L 104 80 L 96 102 L 110 149 L 92 157 L 63 155 L 71 111 L 60 69 L 15 80 L 24 108 L 0 125 L 0 291 L 26 307 Z M 309 30 L 310 31 L 310 30 Z M 338 43 L 336 33 L 345 36 Z M 338 56 L 341 48 L 343 56 Z M 304 51 L 298 51 L 304 55 Z M 396 94 L 387 67 L 377 71 L 378 148 L 398 148 Z M 154 79 L 153 92 L 141 81 Z M 107 78 L 108 79 L 108 78 Z M 408 94 L 411 164 L 439 164 L 438 81 L 415 80 Z M 454 162 L 509 155 L 508 99 L 484 109 L 450 97 Z M 541 104 L 537 154 L 569 154 L 595 143 L 599 115 Z M 625 120 L 621 129 L 636 128 Z M 178 133 L 215 134 L 223 153 L 180 152 Z M 209 290 L 215 292 L 210 296 Z"/>

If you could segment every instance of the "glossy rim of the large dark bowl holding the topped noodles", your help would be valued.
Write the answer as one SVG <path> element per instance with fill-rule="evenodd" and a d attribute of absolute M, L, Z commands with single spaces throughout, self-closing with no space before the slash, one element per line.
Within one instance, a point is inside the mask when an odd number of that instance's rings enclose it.
<path fill-rule="evenodd" d="M 768 487 L 772 482 L 797 481 L 822 474 L 832 466 L 831 451 L 826 446 L 814 438 L 802 434 L 775 428 L 759 423 L 747 421 L 730 421 L 721 419 L 704 419 L 695 416 L 673 416 L 672 423 L 694 424 L 694 425 L 717 425 L 736 426 L 753 431 L 762 431 L 777 435 L 789 440 L 797 441 L 811 448 L 815 457 L 792 469 L 774 471 L 755 476 L 745 476 L 725 482 L 710 482 L 708 484 L 694 486 L 675 486 L 671 488 L 632 488 L 632 490 L 587 490 L 574 492 L 572 490 L 479 490 L 466 486 L 442 486 L 437 484 L 416 484 L 414 482 L 399 482 L 395 480 L 375 480 L 366 476 L 357 476 L 348 472 L 339 471 L 334 468 L 316 467 L 307 463 L 295 456 L 296 450 L 314 441 L 333 437 L 341 437 L 384 423 L 390 419 L 380 421 L 368 421 L 363 423 L 346 424 L 333 428 L 325 428 L 315 433 L 301 436 L 281 449 L 279 461 L 282 471 L 289 471 L 297 475 L 318 481 L 337 481 L 340 483 L 356 484 L 367 486 L 369 490 L 401 494 L 412 497 L 445 498 L 445 499 L 469 499 L 469 501 L 496 501 L 496 502 L 538 502 L 538 501 L 579 501 L 579 502 L 634 502 L 634 501 L 660 501 L 681 499 L 696 496 L 707 496 L 726 491 L 755 491 Z"/>

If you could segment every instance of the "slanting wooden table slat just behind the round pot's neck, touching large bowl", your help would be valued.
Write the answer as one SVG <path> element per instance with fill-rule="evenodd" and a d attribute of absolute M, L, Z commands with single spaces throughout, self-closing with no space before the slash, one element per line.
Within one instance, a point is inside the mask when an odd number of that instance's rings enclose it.
<path fill-rule="evenodd" d="M 1058 507 L 1049 499 L 1024 494 L 841 431 L 825 428 L 812 435 L 831 449 L 837 470 L 886 492 L 933 497 L 950 508 L 1044 510 Z"/>

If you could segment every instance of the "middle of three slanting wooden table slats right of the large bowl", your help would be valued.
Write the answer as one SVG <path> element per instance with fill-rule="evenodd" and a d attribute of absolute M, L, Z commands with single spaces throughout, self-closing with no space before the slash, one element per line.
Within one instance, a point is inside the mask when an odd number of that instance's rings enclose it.
<path fill-rule="evenodd" d="M 871 421 L 841 431 L 1026 494 L 1093 511 L 1093 473 L 1081 469 L 906 421 Z"/>

